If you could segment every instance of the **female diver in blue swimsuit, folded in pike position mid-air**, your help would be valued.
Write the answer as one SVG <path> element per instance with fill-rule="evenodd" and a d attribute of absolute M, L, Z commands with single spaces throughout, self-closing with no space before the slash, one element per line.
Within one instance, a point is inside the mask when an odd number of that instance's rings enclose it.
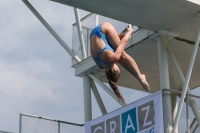
<path fill-rule="evenodd" d="M 146 91 L 150 90 L 145 75 L 140 73 L 136 62 L 124 51 L 132 32 L 132 29 L 127 28 L 126 34 L 118 35 L 110 23 L 103 22 L 90 33 L 91 55 L 98 67 L 105 69 L 112 90 L 122 102 L 124 102 L 124 98 L 116 86 L 116 82 L 120 77 L 120 69 L 115 64 L 116 62 L 135 76 Z"/>

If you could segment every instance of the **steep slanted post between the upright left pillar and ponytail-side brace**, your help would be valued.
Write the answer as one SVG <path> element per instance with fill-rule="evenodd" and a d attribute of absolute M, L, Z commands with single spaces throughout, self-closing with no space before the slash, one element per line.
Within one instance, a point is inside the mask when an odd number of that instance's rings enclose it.
<path fill-rule="evenodd" d="M 101 113 L 102 113 L 103 115 L 107 114 L 106 108 L 105 108 L 105 106 L 104 106 L 104 104 L 103 104 L 103 101 L 102 101 L 100 95 L 99 95 L 99 92 L 98 92 L 98 90 L 97 90 L 97 87 L 96 87 L 96 85 L 95 85 L 95 83 L 94 83 L 94 81 L 93 81 L 92 79 L 90 80 L 90 83 L 91 83 L 91 88 L 92 88 L 92 91 L 93 91 L 94 96 L 95 96 L 95 98 L 96 98 L 96 101 L 97 101 L 97 103 L 98 103 L 98 105 L 99 105 L 99 108 L 100 108 L 100 110 L 101 110 Z"/>

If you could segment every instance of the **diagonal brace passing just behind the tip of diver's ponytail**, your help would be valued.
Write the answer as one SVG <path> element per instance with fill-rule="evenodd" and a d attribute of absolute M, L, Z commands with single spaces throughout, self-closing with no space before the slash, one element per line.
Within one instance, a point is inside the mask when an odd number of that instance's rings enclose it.
<path fill-rule="evenodd" d="M 126 104 L 119 101 L 117 96 L 113 91 L 111 91 L 104 83 L 102 83 L 97 77 L 95 77 L 93 74 L 88 74 L 94 81 L 97 82 L 115 101 L 117 101 L 121 106 L 125 106 Z"/>

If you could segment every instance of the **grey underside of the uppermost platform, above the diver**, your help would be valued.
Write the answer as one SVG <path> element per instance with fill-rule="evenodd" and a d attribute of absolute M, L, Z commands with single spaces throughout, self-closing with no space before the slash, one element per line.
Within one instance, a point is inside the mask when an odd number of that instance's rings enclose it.
<path fill-rule="evenodd" d="M 200 6 L 184 0 L 53 0 L 109 18 L 159 31 L 200 13 Z"/>

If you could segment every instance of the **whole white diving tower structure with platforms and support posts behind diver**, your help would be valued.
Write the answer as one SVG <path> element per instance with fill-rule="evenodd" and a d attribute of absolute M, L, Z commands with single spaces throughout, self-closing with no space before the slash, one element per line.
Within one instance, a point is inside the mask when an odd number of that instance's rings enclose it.
<path fill-rule="evenodd" d="M 80 57 L 74 55 L 68 45 L 30 3 L 27 0 L 22 1 L 77 62 L 73 67 L 75 75 L 83 78 L 85 121 L 92 119 L 90 88 L 94 92 L 102 114 L 107 113 L 94 81 L 117 102 L 119 101 L 111 89 L 103 83 L 107 82 L 105 75 L 102 75 L 102 71 L 98 69 L 92 58 L 87 57 L 77 8 L 143 27 L 132 35 L 126 52 L 136 60 L 141 71 L 147 76 L 152 93 L 160 89 L 182 90 L 178 105 L 176 96 L 171 95 L 170 91 L 164 91 L 163 94 L 165 133 L 176 131 L 186 93 L 190 94 L 190 89 L 200 85 L 199 5 L 183 0 L 53 0 L 76 7 L 74 12 L 81 44 L 81 60 Z M 96 20 L 98 24 L 98 16 Z M 131 74 L 123 68 L 120 69 L 122 73 L 118 82 L 120 86 L 143 91 L 141 85 Z M 186 76 L 184 76 L 185 73 Z M 189 98 L 189 102 L 200 125 L 200 114 L 196 103 L 192 98 Z M 119 104 L 124 106 L 123 103 L 119 102 Z"/>

